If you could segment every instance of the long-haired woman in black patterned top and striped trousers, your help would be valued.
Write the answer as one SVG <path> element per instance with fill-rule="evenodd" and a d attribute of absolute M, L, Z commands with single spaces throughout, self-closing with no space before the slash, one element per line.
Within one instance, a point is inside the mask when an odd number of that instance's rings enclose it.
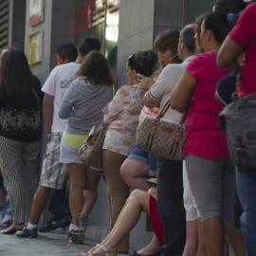
<path fill-rule="evenodd" d="M 38 186 L 38 156 L 42 135 L 41 84 L 32 76 L 23 51 L 4 53 L 0 80 L 0 164 L 7 183 L 14 234 L 29 218 Z"/>

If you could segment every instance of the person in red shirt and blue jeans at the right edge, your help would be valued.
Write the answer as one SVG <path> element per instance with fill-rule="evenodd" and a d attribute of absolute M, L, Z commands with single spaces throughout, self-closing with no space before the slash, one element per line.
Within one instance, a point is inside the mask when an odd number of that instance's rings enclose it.
<path fill-rule="evenodd" d="M 247 9 L 242 12 L 238 22 L 230 31 L 229 36 L 223 46 L 221 46 L 218 54 L 218 64 L 220 66 L 238 72 L 241 71 L 241 66 L 238 64 L 237 60 L 243 52 L 247 54 L 241 83 L 237 90 L 239 98 L 256 93 L 256 3 L 253 2 L 255 1 L 251 1 Z M 243 170 L 243 172 L 239 172 L 237 169 L 236 182 L 239 199 L 244 209 L 240 220 L 241 228 L 245 236 L 247 255 L 256 255 L 255 168 Z"/>

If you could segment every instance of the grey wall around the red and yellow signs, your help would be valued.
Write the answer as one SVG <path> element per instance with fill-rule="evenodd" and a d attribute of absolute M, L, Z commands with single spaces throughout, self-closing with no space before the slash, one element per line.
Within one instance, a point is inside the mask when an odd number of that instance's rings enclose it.
<path fill-rule="evenodd" d="M 29 0 L 26 8 L 25 52 L 28 52 L 28 38 L 43 30 L 42 63 L 31 65 L 31 70 L 44 83 L 51 69 L 56 65 L 54 50 L 64 43 L 73 43 L 73 1 L 45 0 L 44 21 L 29 26 Z"/>

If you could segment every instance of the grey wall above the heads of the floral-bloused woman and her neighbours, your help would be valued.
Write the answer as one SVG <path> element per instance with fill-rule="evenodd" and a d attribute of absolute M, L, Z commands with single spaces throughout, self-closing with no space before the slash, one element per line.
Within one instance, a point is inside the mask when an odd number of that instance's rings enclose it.
<path fill-rule="evenodd" d="M 127 58 L 153 48 L 157 34 L 167 28 L 181 29 L 211 9 L 211 0 L 120 0 L 118 85 L 126 84 Z"/>

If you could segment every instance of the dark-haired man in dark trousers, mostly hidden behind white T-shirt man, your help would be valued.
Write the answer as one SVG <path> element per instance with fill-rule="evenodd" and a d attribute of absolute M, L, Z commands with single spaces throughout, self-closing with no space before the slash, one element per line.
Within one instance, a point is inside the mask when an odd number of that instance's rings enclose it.
<path fill-rule="evenodd" d="M 69 64 L 75 62 L 78 58 L 78 49 L 72 44 L 63 44 L 55 49 L 57 64 Z M 50 216 L 46 225 L 40 229 L 40 232 L 48 232 L 53 229 L 64 228 L 71 222 L 71 213 L 69 210 L 68 195 L 66 188 L 66 175 L 62 190 L 52 189 L 49 195 L 48 210 Z"/>

